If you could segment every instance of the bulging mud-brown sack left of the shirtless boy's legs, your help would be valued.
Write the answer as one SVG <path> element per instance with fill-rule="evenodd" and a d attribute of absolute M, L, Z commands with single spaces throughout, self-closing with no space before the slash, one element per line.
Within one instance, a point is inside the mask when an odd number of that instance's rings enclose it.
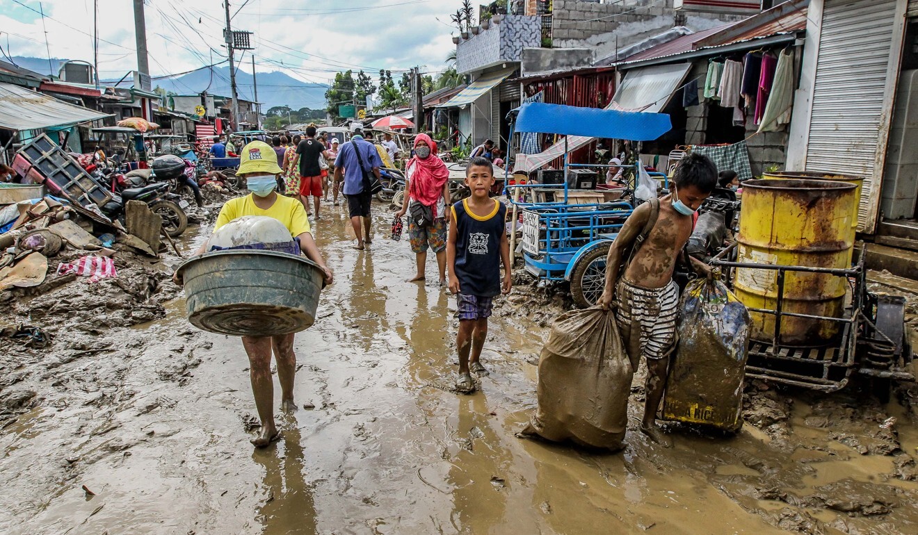
<path fill-rule="evenodd" d="M 539 407 L 523 434 L 620 449 L 633 374 L 613 312 L 566 312 L 554 321 L 542 350 Z"/>

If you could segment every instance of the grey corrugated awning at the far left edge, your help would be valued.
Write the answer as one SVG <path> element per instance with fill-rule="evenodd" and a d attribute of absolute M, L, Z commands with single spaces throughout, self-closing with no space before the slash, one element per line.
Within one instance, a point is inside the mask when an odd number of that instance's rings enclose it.
<path fill-rule="evenodd" d="M 110 114 L 63 102 L 13 84 L 0 84 L 0 128 L 35 130 L 95 121 Z"/>

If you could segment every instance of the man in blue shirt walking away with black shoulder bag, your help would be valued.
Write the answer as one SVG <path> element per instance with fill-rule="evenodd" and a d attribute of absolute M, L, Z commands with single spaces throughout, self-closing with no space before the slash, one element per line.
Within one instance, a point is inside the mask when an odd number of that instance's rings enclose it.
<path fill-rule="evenodd" d="M 364 139 L 360 129 L 354 131 L 353 138 L 338 150 L 335 159 L 335 180 L 344 181 L 344 197 L 347 199 L 351 216 L 353 233 L 357 237 L 354 249 L 364 251 L 364 243 L 373 242 L 370 232 L 370 204 L 373 195 L 364 187 L 364 173 L 373 173 L 379 178 L 379 168 L 383 165 L 373 143 Z M 363 233 L 361 233 L 363 219 Z"/>

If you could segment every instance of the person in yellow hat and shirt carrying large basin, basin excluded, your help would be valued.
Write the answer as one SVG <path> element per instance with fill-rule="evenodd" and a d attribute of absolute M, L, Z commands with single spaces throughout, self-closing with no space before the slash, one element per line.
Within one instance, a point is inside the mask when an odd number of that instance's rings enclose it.
<path fill-rule="evenodd" d="M 252 141 L 242 148 L 241 162 L 237 176 L 246 182 L 250 194 L 229 199 L 220 208 L 214 230 L 223 227 L 230 221 L 245 216 L 274 217 L 290 231 L 290 235 L 299 241 L 300 249 L 312 262 L 319 264 L 325 275 L 325 284 L 331 284 L 332 273 L 325 265 L 325 260 L 316 247 L 309 228 L 306 211 L 297 199 L 277 195 L 274 191 L 281 168 L 274 159 L 274 150 L 263 141 Z M 207 242 L 201 245 L 196 255 L 203 254 Z M 182 279 L 176 272 L 173 276 L 176 284 Z M 249 356 L 249 376 L 252 381 L 252 394 L 255 407 L 262 421 L 258 437 L 252 439 L 256 448 L 264 448 L 279 436 L 274 423 L 274 380 L 271 376 L 271 352 L 277 362 L 277 377 L 281 384 L 281 409 L 285 412 L 297 410 L 294 401 L 294 377 L 297 373 L 297 355 L 293 351 L 294 335 L 277 336 L 243 336 L 242 347 Z"/>

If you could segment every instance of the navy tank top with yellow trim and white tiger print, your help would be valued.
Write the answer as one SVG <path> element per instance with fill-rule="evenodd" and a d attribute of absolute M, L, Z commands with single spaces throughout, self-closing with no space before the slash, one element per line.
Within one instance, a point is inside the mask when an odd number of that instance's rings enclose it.
<path fill-rule="evenodd" d="M 493 297 L 500 295 L 500 240 L 507 232 L 507 206 L 497 199 L 494 210 L 478 217 L 463 199 L 453 205 L 456 226 L 456 278 L 459 293 Z"/>

